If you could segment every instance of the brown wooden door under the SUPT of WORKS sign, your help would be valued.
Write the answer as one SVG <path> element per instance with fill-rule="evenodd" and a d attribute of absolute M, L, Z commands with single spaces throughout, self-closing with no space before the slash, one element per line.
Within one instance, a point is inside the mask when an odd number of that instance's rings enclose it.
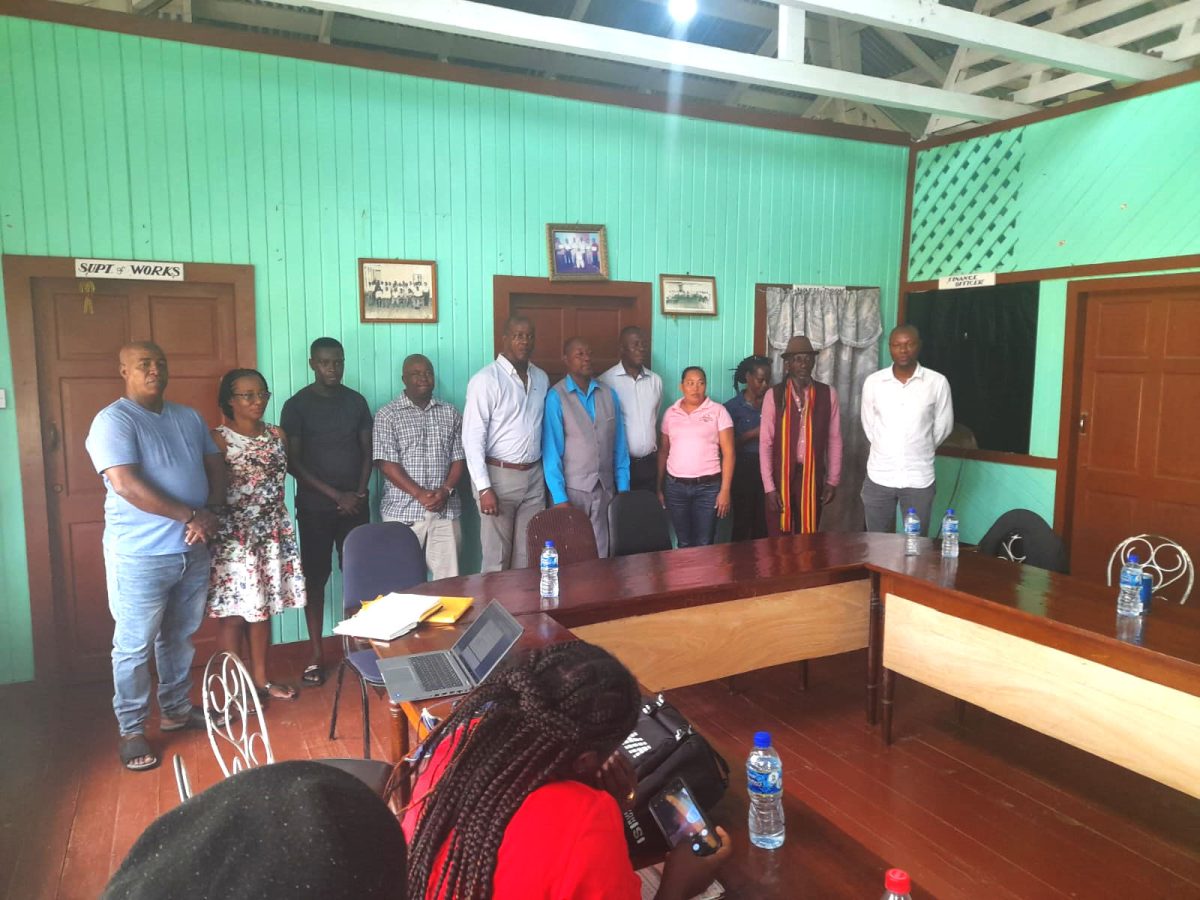
<path fill-rule="evenodd" d="M 196 408 L 212 425 L 220 421 L 221 376 L 239 365 L 232 284 L 95 284 L 88 311 L 74 278 L 32 280 L 52 619 L 59 674 L 68 682 L 112 677 L 113 620 L 101 546 L 104 486 L 84 439 L 96 413 L 124 394 L 118 350 L 128 341 L 156 342 L 170 366 L 167 398 Z M 196 647 L 197 660 L 214 653 L 215 624 L 205 623 Z"/>

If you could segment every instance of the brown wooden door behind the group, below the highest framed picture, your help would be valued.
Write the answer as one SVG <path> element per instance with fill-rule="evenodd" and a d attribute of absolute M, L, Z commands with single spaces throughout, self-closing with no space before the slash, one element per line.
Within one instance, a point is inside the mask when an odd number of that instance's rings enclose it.
<path fill-rule="evenodd" d="M 551 384 L 566 374 L 563 342 L 568 338 L 582 337 L 590 344 L 592 366 L 599 376 L 617 364 L 623 328 L 637 325 L 650 336 L 649 282 L 564 283 L 498 275 L 493 287 L 497 344 L 509 316 L 526 316 L 536 331 L 533 362 L 546 370 Z M 654 368 L 653 359 L 647 367 Z"/>

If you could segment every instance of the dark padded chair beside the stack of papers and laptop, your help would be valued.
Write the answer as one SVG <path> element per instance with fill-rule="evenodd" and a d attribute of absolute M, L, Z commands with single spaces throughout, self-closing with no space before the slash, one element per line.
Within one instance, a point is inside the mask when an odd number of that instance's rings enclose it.
<path fill-rule="evenodd" d="M 425 551 L 413 529 L 401 522 L 361 524 L 348 535 L 342 548 L 342 613 L 353 616 L 364 600 L 404 590 L 425 582 Z M 371 716 L 367 713 L 367 685 L 383 689 L 379 658 L 358 641 L 342 636 L 342 662 L 337 667 L 334 712 L 329 719 L 329 739 L 337 737 L 337 702 L 342 697 L 342 679 L 349 668 L 359 679 L 362 698 L 362 757 L 371 758 Z"/>

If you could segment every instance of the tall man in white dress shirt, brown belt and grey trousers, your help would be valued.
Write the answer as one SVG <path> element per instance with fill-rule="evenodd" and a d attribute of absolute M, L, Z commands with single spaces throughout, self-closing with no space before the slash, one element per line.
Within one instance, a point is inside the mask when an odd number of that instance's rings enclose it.
<path fill-rule="evenodd" d="M 484 572 L 523 569 L 526 527 L 545 508 L 541 420 L 550 379 L 529 361 L 534 328 L 512 316 L 500 353 L 467 384 L 462 449 L 479 502 Z"/>

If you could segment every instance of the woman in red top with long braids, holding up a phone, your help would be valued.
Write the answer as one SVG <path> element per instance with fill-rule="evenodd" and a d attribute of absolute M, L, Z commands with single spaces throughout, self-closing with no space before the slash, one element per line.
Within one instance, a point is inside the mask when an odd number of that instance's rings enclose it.
<path fill-rule="evenodd" d="M 407 774 L 409 896 L 638 900 L 614 794 L 632 805 L 617 750 L 640 703 L 629 670 L 582 641 L 534 650 L 467 695 Z M 708 886 L 731 852 L 718 833 L 714 856 L 671 852 L 658 900 Z"/>

